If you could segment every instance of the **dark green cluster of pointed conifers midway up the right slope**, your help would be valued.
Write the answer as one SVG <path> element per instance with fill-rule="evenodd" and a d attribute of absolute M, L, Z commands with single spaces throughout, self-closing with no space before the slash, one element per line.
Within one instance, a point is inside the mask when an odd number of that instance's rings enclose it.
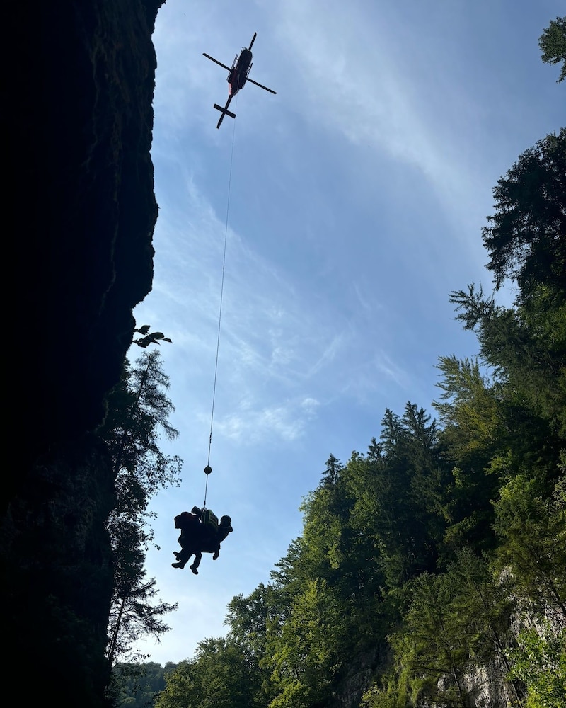
<path fill-rule="evenodd" d="M 370 544 L 366 559 L 379 582 L 395 590 L 434 569 L 449 468 L 430 416 L 410 403 L 402 417 L 386 411 L 380 442 L 371 442 L 367 457 L 353 455 L 344 474 L 355 498 L 351 525 Z"/>

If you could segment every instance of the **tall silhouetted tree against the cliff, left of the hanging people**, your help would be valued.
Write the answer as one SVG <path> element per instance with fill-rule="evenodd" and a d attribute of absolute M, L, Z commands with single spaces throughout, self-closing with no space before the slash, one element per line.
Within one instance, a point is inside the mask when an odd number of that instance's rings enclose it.
<path fill-rule="evenodd" d="M 169 439 L 178 431 L 168 421 L 174 410 L 166 396 L 168 377 L 155 350 L 144 353 L 135 367 L 125 366 L 120 383 L 108 399 L 108 414 L 98 430 L 110 450 L 115 474 L 115 507 L 107 521 L 114 554 L 114 588 L 107 647 L 108 662 L 127 656 L 140 634 L 156 639 L 169 627 L 161 617 L 176 605 L 156 603 L 156 581 L 147 580 L 145 552 L 153 541 L 147 506 L 156 491 L 178 484 L 178 457 L 158 447 L 158 430 Z"/>

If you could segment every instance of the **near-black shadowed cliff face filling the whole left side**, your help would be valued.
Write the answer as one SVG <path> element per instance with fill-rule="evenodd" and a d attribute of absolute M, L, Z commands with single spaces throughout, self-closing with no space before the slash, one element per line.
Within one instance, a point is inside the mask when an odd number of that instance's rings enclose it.
<path fill-rule="evenodd" d="M 111 467 L 89 436 L 151 290 L 161 0 L 12 3 L 4 222 L 11 462 L 0 507 L 8 670 L 25 701 L 103 704 Z M 11 277 L 10 277 L 11 276 Z"/>

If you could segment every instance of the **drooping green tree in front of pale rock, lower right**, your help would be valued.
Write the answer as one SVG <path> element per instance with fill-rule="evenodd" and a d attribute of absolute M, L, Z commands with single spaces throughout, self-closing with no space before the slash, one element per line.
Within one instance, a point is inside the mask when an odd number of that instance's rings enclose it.
<path fill-rule="evenodd" d="M 470 548 L 461 549 L 443 573 L 424 573 L 406 591 L 408 610 L 391 636 L 395 673 L 366 695 L 368 707 L 422 702 L 467 706 L 470 671 L 492 662 L 502 663 L 509 673 L 507 636 L 514 603 L 509 586 L 496 579 L 485 559 Z M 509 691 L 521 700 L 516 678 L 511 678 Z"/>

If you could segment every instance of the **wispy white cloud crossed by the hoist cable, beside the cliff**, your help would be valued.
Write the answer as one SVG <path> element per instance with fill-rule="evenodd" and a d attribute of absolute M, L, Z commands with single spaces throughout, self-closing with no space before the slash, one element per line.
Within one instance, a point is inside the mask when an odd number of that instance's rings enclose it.
<path fill-rule="evenodd" d="M 162 258 L 166 254 L 160 263 L 167 269 L 156 264 L 154 292 L 137 316 L 149 321 L 156 312 L 168 313 L 168 322 L 159 326 L 173 338 L 171 356 L 180 361 L 179 350 L 184 353 L 186 395 L 200 401 L 182 414 L 183 425 L 190 427 L 192 418 L 204 427 L 218 343 L 225 224 L 189 173 L 182 185 L 183 200 L 161 215 L 156 232 Z M 333 398 L 333 389 L 353 387 L 348 379 L 359 377 L 359 335 L 348 319 L 351 313 L 341 314 L 340 307 L 297 290 L 284 270 L 259 256 L 233 229 L 227 253 L 215 435 L 242 445 L 274 436 L 298 440 L 323 401 Z"/>

